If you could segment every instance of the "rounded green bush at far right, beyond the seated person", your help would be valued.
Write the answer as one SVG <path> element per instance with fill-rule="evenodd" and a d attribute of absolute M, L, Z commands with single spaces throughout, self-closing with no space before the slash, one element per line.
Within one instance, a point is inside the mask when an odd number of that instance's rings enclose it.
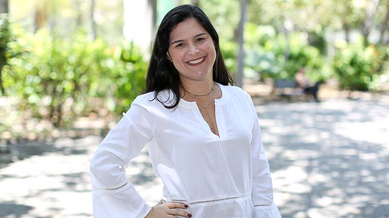
<path fill-rule="evenodd" d="M 334 70 L 342 89 L 368 91 L 380 84 L 388 58 L 386 47 L 347 45 L 339 47 L 334 57 Z"/>

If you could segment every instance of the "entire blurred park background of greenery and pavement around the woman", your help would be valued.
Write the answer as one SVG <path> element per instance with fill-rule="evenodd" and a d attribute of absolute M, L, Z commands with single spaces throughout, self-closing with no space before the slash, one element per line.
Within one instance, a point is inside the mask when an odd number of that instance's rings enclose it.
<path fill-rule="evenodd" d="M 389 218 L 389 0 L 0 0 L 0 217 L 92 217 L 90 158 L 184 3 L 257 105 L 283 217 Z M 147 148 L 127 174 L 159 202 Z"/>

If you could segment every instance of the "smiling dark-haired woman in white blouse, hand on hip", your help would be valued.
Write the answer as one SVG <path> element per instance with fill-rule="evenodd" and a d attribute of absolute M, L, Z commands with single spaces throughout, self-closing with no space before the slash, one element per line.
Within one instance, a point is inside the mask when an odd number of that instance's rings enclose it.
<path fill-rule="evenodd" d="M 201 9 L 181 5 L 157 31 L 139 95 L 90 164 L 95 217 L 281 218 L 257 113 L 232 78 Z M 145 145 L 164 184 L 150 207 L 125 168 Z"/>

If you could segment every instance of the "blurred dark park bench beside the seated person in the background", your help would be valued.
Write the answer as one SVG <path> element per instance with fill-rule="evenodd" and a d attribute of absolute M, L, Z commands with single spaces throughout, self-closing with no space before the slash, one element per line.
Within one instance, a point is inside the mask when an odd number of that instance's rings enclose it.
<path fill-rule="evenodd" d="M 287 98 L 289 101 L 291 101 L 292 98 L 304 97 L 305 95 L 297 82 L 292 79 L 275 79 L 273 91 L 271 93 Z"/>

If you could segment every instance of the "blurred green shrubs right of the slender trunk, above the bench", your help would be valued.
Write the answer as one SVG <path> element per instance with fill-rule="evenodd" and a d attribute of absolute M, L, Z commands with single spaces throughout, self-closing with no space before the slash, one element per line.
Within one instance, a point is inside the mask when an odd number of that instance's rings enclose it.
<path fill-rule="evenodd" d="M 246 27 L 246 67 L 262 78 L 294 78 L 301 67 L 314 80 L 327 78 L 321 72 L 323 58 L 318 48 L 308 45 L 307 34 L 293 32 L 286 37 L 271 26 L 248 23 Z"/>

